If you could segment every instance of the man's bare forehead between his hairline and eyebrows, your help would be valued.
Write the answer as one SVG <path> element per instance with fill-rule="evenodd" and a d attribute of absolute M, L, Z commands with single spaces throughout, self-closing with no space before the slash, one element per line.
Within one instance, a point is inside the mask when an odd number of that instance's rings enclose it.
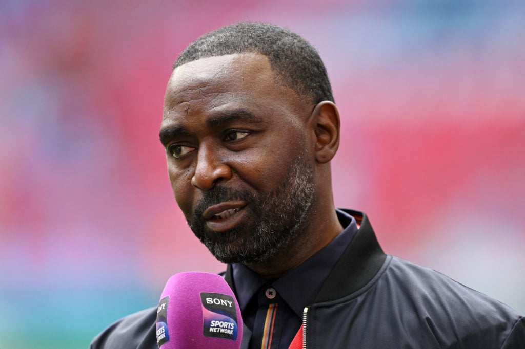
<path fill-rule="evenodd" d="M 177 67 L 164 98 L 164 119 L 175 111 L 196 106 L 254 108 L 292 107 L 302 101 L 290 88 L 278 83 L 268 58 L 258 53 L 228 54 L 188 62 Z"/>

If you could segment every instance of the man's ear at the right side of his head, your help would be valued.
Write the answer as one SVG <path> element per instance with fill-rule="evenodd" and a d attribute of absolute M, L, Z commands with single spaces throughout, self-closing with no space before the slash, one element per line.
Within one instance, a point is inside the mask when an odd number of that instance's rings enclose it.
<path fill-rule="evenodd" d="M 310 117 L 315 131 L 316 160 L 327 163 L 334 157 L 339 148 L 340 119 L 337 106 L 330 101 L 323 101 L 313 108 Z"/>

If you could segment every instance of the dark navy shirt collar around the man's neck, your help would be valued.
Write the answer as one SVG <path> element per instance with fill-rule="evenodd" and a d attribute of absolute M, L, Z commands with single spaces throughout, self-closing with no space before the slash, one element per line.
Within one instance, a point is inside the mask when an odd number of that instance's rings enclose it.
<path fill-rule="evenodd" d="M 341 234 L 288 274 L 271 282 L 277 293 L 299 317 L 302 317 L 304 307 L 313 303 L 333 266 L 358 231 L 354 217 L 341 210 L 336 212 L 339 222 L 344 227 Z M 262 285 L 268 284 L 268 281 L 244 264 L 234 263 L 232 268 L 237 301 L 241 311 L 244 311 L 250 299 Z"/>

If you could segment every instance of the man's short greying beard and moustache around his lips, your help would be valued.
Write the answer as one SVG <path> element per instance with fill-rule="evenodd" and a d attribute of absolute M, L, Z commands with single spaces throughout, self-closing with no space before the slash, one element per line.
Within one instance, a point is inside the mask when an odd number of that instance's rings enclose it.
<path fill-rule="evenodd" d="M 297 158 L 287 178 L 266 198 L 255 197 L 243 190 L 214 190 L 216 193 L 205 197 L 188 220 L 194 234 L 223 263 L 263 262 L 299 235 L 313 201 L 312 169 L 308 162 Z M 199 218 L 201 213 L 213 203 L 232 199 L 249 203 L 253 210 L 253 224 L 239 224 L 220 234 L 210 232 Z"/>

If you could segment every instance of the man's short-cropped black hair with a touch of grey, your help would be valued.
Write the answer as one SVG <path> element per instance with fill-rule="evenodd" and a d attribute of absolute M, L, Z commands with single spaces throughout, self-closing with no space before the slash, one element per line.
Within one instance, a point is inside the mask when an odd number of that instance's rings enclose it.
<path fill-rule="evenodd" d="M 201 58 L 254 52 L 264 54 L 282 84 L 314 104 L 334 101 L 319 53 L 295 32 L 266 23 L 241 22 L 208 32 L 178 56 L 173 69 Z"/>

